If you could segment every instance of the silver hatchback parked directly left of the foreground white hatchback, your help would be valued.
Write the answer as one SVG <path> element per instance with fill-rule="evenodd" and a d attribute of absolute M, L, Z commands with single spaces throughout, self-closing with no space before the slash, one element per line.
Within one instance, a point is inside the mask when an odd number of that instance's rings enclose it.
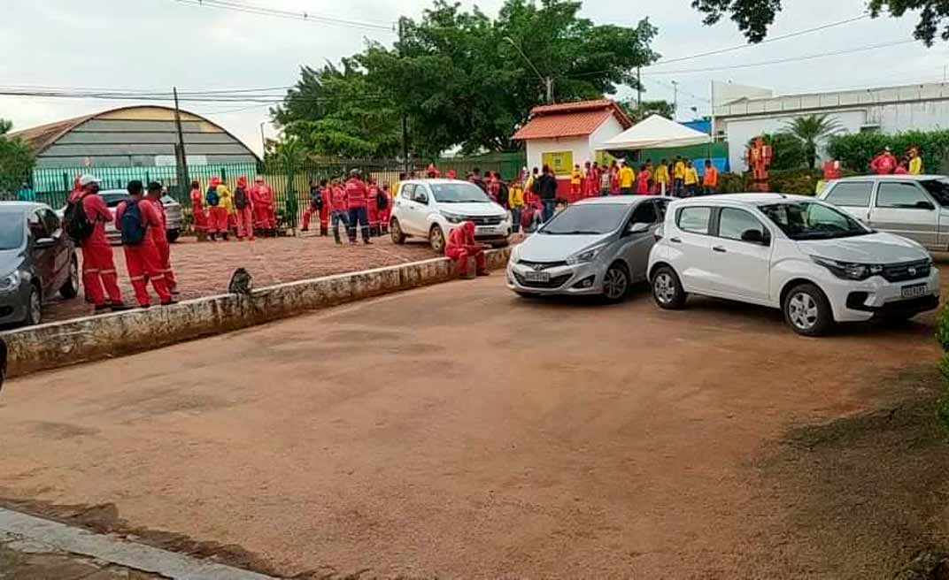
<path fill-rule="evenodd" d="M 586 199 L 560 211 L 508 263 L 508 287 L 525 297 L 602 295 L 618 302 L 646 279 L 649 250 L 670 198 L 621 195 Z"/>

